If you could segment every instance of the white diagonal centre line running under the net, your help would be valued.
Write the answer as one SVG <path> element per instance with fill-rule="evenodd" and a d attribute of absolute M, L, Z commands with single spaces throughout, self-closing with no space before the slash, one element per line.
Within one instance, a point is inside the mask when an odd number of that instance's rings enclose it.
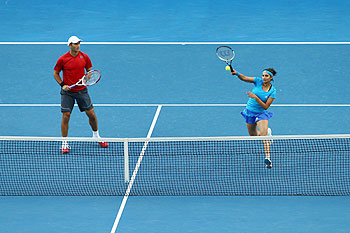
<path fill-rule="evenodd" d="M 161 109 L 162 109 L 162 105 L 158 105 L 156 114 L 155 114 L 154 117 L 153 117 L 153 121 L 152 121 L 151 127 L 150 127 L 150 129 L 149 129 L 149 131 L 148 131 L 147 138 L 150 138 L 151 135 L 152 135 L 153 129 L 154 129 L 155 125 L 156 125 L 156 122 L 157 122 L 157 119 L 158 119 L 158 117 L 159 117 L 159 113 L 160 113 L 160 110 L 161 110 Z M 126 192 L 125 192 L 125 195 L 124 195 L 122 204 L 120 205 L 120 208 L 119 208 L 117 217 L 115 218 L 115 221 L 114 221 L 114 224 L 113 224 L 111 233 L 115 233 L 116 230 L 117 230 L 117 227 L 118 227 L 120 218 L 121 218 L 121 216 L 122 216 L 122 214 L 123 214 L 123 211 L 124 211 L 124 208 L 125 208 L 126 201 L 128 200 L 128 197 L 129 197 L 129 194 L 130 194 L 132 185 L 134 184 L 134 181 L 135 181 L 135 178 L 136 178 L 136 174 L 137 174 L 137 172 L 138 172 L 138 170 L 139 170 L 139 168 L 140 168 L 140 165 L 141 165 L 143 156 L 144 156 L 144 154 L 145 154 L 145 152 L 146 152 L 146 148 L 147 148 L 148 143 L 149 143 L 149 142 L 146 141 L 145 144 L 144 144 L 143 147 L 142 147 L 142 150 L 141 150 L 139 159 L 137 160 L 137 163 L 136 163 L 134 172 L 132 173 L 132 177 L 131 177 L 131 179 L 130 179 L 128 188 L 127 188 L 127 190 L 126 190 Z"/>

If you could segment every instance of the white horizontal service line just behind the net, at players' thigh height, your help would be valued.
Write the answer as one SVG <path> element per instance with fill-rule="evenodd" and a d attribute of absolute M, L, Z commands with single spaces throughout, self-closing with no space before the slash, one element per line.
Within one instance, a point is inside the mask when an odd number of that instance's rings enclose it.
<path fill-rule="evenodd" d="M 245 107 L 247 104 L 94 104 L 95 107 Z M 0 107 L 60 107 L 60 104 L 0 104 Z M 75 104 L 75 106 L 78 106 Z M 350 104 L 272 104 L 271 107 L 350 107 Z"/>

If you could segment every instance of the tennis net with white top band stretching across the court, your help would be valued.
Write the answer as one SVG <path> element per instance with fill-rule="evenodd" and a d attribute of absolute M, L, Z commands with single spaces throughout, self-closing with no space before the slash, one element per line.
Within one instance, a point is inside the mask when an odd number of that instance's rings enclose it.
<path fill-rule="evenodd" d="M 0 137 L 0 195 L 350 195 L 350 135 L 62 140 Z"/>

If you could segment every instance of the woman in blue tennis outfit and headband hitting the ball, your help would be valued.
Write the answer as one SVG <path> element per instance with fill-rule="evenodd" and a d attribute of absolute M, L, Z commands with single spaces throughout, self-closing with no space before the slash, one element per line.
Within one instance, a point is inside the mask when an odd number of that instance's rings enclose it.
<path fill-rule="evenodd" d="M 250 97 L 246 108 L 241 112 L 244 117 L 250 136 L 271 136 L 271 129 L 269 128 L 269 119 L 273 117 L 272 112 L 267 109 L 271 106 L 276 98 L 276 89 L 272 85 L 273 77 L 277 72 L 273 68 L 265 69 L 262 77 L 247 77 L 240 74 L 236 70 L 231 71 L 232 75 L 236 75 L 240 80 L 247 83 L 254 83 L 254 88 L 251 92 L 247 92 Z M 259 129 L 259 130 L 258 130 Z M 272 167 L 270 144 L 272 141 L 264 140 L 265 160 L 264 163 L 267 168 Z"/>

